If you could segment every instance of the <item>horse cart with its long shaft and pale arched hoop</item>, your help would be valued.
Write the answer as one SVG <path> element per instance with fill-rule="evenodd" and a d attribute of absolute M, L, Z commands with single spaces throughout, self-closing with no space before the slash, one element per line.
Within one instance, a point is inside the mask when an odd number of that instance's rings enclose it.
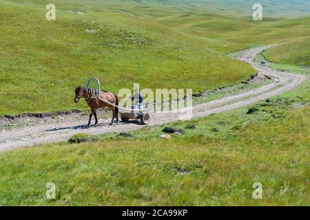
<path fill-rule="evenodd" d="M 113 104 L 107 100 L 100 98 L 101 89 L 100 89 L 100 82 L 99 82 L 98 78 L 96 78 L 96 77 L 90 78 L 90 80 L 88 80 L 88 82 L 87 82 L 86 88 L 87 89 L 90 88 L 90 83 L 92 83 L 92 80 L 96 80 L 97 89 L 98 89 L 98 93 L 97 93 L 98 97 L 92 97 L 92 98 L 98 98 L 102 102 L 105 102 L 105 103 L 110 104 L 114 107 L 117 107 L 118 109 L 125 111 L 125 112 L 120 112 L 121 119 L 123 121 L 128 121 L 130 119 L 134 119 L 134 120 L 140 120 L 141 124 L 148 124 L 148 122 L 149 122 L 149 110 L 148 109 L 129 109 L 129 108 L 125 108 L 125 107 L 120 107 L 116 104 Z M 136 116 L 137 114 L 135 114 L 135 112 L 138 112 L 138 116 Z"/>

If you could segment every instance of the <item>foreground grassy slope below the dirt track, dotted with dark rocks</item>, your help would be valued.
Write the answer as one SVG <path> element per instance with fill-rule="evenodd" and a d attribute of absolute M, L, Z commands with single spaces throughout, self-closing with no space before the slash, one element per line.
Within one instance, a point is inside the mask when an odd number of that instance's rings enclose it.
<path fill-rule="evenodd" d="M 92 206 L 308 206 L 309 84 L 247 108 L 108 134 L 84 144 L 45 144 L 0 154 L 0 204 Z M 56 184 L 56 199 L 45 185 Z M 260 182 L 263 199 L 252 199 Z"/>

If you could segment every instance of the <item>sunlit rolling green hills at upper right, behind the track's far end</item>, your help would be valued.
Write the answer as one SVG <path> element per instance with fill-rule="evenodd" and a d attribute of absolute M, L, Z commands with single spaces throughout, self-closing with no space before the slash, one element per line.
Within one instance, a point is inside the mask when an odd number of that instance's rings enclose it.
<path fill-rule="evenodd" d="M 254 45 L 279 43 L 310 36 L 310 17 L 299 19 L 265 19 L 257 22 L 249 17 L 227 17 L 216 12 L 185 12 L 157 20 L 173 30 L 208 39 L 209 47 L 231 52 Z"/>

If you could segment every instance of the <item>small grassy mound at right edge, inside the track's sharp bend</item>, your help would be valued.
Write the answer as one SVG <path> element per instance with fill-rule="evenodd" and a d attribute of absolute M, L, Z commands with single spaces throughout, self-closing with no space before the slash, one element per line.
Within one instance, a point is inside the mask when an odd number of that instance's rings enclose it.
<path fill-rule="evenodd" d="M 265 52 L 264 56 L 273 63 L 310 66 L 310 38 L 281 43 Z"/>

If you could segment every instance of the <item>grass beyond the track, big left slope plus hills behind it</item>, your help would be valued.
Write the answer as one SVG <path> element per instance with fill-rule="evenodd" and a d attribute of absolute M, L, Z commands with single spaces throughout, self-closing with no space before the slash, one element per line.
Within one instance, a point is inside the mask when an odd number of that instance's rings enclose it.
<path fill-rule="evenodd" d="M 226 53 L 309 36 L 309 17 L 254 22 L 205 8 L 68 0 L 54 1 L 56 21 L 46 21 L 47 3 L 0 1 L 0 115 L 87 109 L 72 98 L 92 76 L 116 94 L 133 83 L 232 85 L 255 71 Z"/>

